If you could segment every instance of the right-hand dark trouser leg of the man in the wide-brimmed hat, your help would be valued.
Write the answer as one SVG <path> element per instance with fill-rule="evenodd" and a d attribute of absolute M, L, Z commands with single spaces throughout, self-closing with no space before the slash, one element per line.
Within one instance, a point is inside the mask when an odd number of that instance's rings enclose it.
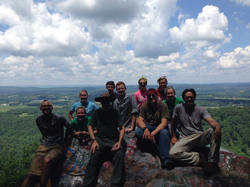
<path fill-rule="evenodd" d="M 110 180 L 111 187 L 122 187 L 126 181 L 126 171 L 124 165 L 124 154 L 122 149 L 112 151 L 114 170 Z"/>

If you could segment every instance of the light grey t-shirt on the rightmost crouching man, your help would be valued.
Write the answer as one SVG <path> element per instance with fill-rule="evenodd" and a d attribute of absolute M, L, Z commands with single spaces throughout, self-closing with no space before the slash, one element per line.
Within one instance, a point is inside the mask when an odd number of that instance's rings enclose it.
<path fill-rule="evenodd" d="M 211 117 L 206 109 L 197 104 L 190 113 L 185 108 L 185 105 L 185 103 L 176 105 L 173 112 L 173 118 L 177 118 L 179 121 L 181 138 L 202 133 L 201 121 Z"/>

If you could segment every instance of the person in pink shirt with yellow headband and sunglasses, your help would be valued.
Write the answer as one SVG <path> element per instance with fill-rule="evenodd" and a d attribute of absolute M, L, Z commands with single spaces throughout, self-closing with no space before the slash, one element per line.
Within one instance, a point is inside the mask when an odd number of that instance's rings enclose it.
<path fill-rule="evenodd" d="M 140 110 L 142 105 L 147 102 L 147 82 L 147 78 L 143 76 L 138 80 L 139 90 L 135 92 L 134 95 L 138 104 L 138 110 Z"/>

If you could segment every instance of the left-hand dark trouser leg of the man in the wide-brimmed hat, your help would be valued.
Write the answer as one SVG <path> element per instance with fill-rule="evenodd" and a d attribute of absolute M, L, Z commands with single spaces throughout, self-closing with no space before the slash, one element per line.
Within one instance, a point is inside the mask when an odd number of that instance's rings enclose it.
<path fill-rule="evenodd" d="M 95 152 L 91 154 L 83 181 L 84 187 L 93 187 L 97 185 L 98 175 L 106 153 L 105 147 L 99 144 L 99 149 L 96 149 Z"/>

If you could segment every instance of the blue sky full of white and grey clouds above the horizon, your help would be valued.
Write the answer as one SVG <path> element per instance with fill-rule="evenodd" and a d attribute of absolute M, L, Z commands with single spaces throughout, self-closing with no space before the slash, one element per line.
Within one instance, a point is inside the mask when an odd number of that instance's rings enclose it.
<path fill-rule="evenodd" d="M 0 0 L 0 86 L 250 82 L 250 0 Z"/>

